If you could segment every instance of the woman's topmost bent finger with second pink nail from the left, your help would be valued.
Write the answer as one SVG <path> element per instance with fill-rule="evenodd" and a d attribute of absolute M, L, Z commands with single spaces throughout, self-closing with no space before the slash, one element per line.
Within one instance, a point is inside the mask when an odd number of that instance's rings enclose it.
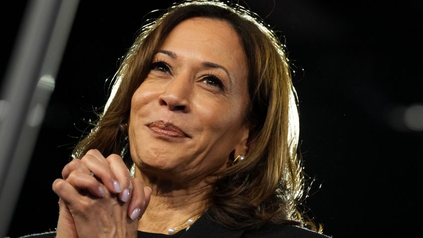
<path fill-rule="evenodd" d="M 120 193 L 122 188 L 111 172 L 106 158 L 97 149 L 90 149 L 81 158 L 90 171 L 99 178 L 110 193 Z"/>

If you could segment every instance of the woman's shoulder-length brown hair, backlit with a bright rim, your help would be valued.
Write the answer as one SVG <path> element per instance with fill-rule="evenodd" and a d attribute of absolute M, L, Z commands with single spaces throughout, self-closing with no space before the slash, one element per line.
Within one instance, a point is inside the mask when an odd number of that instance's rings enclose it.
<path fill-rule="evenodd" d="M 145 24 L 114 76 L 104 113 L 73 157 L 92 148 L 105 155 L 121 152 L 126 132 L 119 128 L 129 119 L 131 97 L 147 76 L 155 50 L 173 27 L 197 16 L 230 23 L 249 66 L 249 150 L 242 163 L 218 175 L 209 197 L 211 218 L 232 229 L 257 228 L 266 222 L 304 225 L 298 207 L 305 186 L 297 153 L 298 105 L 285 47 L 257 15 L 238 4 L 186 0 Z M 130 156 L 125 159 L 130 166 Z"/>

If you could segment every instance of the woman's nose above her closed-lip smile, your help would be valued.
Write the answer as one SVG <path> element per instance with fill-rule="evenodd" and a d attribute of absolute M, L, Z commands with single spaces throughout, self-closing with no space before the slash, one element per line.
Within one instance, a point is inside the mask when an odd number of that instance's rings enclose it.
<path fill-rule="evenodd" d="M 160 106 L 168 107 L 170 111 L 188 113 L 191 110 L 191 88 L 188 77 L 182 75 L 174 77 L 159 96 Z"/>

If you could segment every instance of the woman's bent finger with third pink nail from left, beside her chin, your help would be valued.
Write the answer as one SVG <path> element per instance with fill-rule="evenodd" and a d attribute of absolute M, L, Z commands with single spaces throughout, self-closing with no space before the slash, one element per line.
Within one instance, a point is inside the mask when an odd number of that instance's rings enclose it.
<path fill-rule="evenodd" d="M 107 156 L 106 161 L 110 167 L 111 172 L 117 179 L 117 182 L 123 189 L 123 191 L 120 192 L 118 195 L 120 201 L 129 201 L 130 192 L 132 189 L 131 177 L 129 175 L 129 171 L 126 167 L 126 164 L 123 162 L 122 157 L 117 154 L 110 154 L 109 156 Z"/>

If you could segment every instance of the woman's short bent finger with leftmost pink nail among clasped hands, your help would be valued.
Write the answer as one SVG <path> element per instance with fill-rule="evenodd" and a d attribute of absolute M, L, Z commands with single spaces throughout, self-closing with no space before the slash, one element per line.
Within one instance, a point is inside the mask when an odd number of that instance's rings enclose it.
<path fill-rule="evenodd" d="M 100 182 L 94 177 L 79 171 L 72 172 L 65 180 L 76 189 L 87 189 L 91 194 L 104 198 L 106 196 Z"/>

